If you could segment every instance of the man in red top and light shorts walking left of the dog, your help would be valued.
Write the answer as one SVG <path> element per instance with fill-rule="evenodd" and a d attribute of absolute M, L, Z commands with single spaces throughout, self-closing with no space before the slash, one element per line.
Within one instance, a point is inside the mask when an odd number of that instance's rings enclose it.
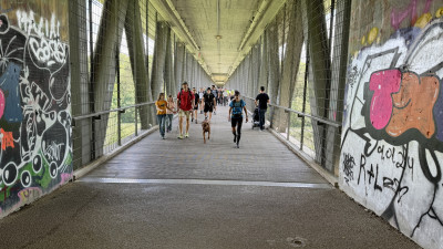
<path fill-rule="evenodd" d="M 178 108 L 178 138 L 183 139 L 183 120 L 186 117 L 186 133 L 185 137 L 189 137 L 189 116 L 194 108 L 194 94 L 189 91 L 187 82 L 183 82 L 182 90 L 177 94 L 177 108 Z"/>

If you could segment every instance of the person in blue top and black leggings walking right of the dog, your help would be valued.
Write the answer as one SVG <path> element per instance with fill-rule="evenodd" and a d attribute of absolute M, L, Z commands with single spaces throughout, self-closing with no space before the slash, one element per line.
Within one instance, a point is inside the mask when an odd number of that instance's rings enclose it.
<path fill-rule="evenodd" d="M 240 100 L 240 92 L 235 91 L 234 100 L 229 103 L 229 116 L 228 121 L 233 127 L 234 143 L 239 148 L 241 138 L 241 124 L 243 124 L 243 112 L 245 112 L 246 123 L 248 123 L 248 112 L 246 111 L 245 101 Z"/>

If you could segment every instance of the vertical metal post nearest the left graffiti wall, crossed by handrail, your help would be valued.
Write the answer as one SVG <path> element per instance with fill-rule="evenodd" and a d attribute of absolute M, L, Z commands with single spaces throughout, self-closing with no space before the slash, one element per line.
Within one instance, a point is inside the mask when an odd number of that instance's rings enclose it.
<path fill-rule="evenodd" d="M 92 0 L 89 0 L 90 7 L 90 112 L 95 112 L 95 101 L 94 101 L 94 42 L 92 32 Z M 91 160 L 95 159 L 95 120 L 91 118 Z"/>

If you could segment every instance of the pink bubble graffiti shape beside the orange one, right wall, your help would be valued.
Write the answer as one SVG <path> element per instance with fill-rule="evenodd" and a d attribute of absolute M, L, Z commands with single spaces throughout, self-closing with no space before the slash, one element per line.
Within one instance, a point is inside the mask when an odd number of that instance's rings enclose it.
<path fill-rule="evenodd" d="M 399 70 L 384 70 L 375 72 L 369 81 L 369 90 L 373 91 L 370 118 L 377 129 L 384 128 L 392 114 L 392 93 L 399 92 L 401 72 Z"/>

